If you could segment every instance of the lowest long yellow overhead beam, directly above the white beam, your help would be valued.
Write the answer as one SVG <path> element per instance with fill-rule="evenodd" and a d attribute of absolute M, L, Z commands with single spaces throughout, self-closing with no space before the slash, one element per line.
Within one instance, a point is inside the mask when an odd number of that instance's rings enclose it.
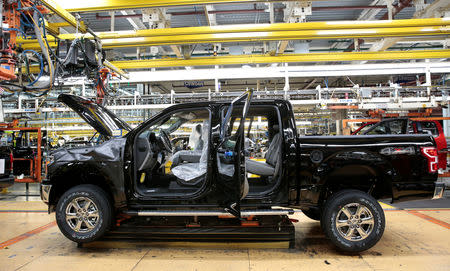
<path fill-rule="evenodd" d="M 113 61 L 120 69 L 146 69 L 160 67 L 214 66 L 261 63 L 293 62 L 328 62 L 357 60 L 392 60 L 392 59 L 430 59 L 450 58 L 447 50 L 383 51 L 383 52 L 344 52 L 344 53 L 307 53 L 270 55 L 241 55 L 217 57 L 193 57 L 190 59 L 163 58 L 151 60 Z"/>

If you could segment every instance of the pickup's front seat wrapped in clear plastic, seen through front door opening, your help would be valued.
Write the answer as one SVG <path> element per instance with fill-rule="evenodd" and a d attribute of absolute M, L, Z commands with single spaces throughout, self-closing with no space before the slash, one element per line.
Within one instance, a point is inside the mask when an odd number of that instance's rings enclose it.
<path fill-rule="evenodd" d="M 209 120 L 204 120 L 202 127 L 203 148 L 200 158 L 195 162 L 190 160 L 188 163 L 179 164 L 172 168 L 172 173 L 182 185 L 197 185 L 206 174 L 209 154 Z"/>

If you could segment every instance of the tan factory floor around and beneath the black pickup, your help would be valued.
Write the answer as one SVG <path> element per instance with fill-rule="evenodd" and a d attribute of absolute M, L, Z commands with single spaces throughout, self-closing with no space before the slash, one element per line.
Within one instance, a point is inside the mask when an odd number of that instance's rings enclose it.
<path fill-rule="evenodd" d="M 254 243 L 106 243 L 78 248 L 55 224 L 55 215 L 23 187 L 0 195 L 0 270 L 450 270 L 450 195 L 383 204 L 386 230 L 372 249 L 346 255 L 324 237 L 319 223 L 293 218 L 295 249 Z M 278 247 L 278 248 L 276 248 Z"/>

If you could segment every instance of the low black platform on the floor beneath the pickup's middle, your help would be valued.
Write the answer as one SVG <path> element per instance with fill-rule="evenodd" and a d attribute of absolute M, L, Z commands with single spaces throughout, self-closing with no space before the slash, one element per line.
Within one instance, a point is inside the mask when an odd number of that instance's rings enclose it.
<path fill-rule="evenodd" d="M 250 220 L 217 217 L 131 217 L 118 220 L 118 225 L 99 241 L 82 247 L 105 247 L 117 242 L 214 242 L 268 243 L 294 248 L 295 227 L 286 215 L 259 216 Z"/>

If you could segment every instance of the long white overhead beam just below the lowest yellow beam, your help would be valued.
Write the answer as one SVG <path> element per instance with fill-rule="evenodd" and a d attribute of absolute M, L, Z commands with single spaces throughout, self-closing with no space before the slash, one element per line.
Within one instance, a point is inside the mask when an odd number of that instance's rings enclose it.
<path fill-rule="evenodd" d="M 131 71 L 122 83 L 173 82 L 215 79 L 270 79 L 325 76 L 373 76 L 400 74 L 450 74 L 450 62 L 415 62 L 352 65 L 304 65 L 249 68 L 180 69 L 156 71 Z M 74 82 L 80 84 L 82 82 Z"/>

